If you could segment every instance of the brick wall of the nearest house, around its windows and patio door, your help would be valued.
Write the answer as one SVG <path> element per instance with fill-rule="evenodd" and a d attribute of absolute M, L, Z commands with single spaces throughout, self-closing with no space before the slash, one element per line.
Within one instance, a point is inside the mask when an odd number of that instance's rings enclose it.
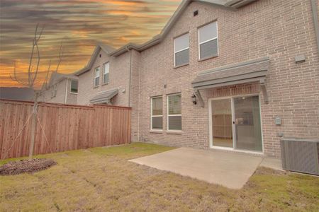
<path fill-rule="evenodd" d="M 193 12 L 198 10 L 198 16 Z M 197 28 L 218 20 L 219 56 L 198 61 Z M 173 39 L 189 32 L 189 65 L 174 69 Z M 294 57 L 306 56 L 296 64 Z M 205 107 L 193 105 L 191 81 L 198 71 L 241 61 L 270 58 L 267 76 L 269 104 L 258 85 L 240 85 L 201 92 Z M 279 157 L 279 132 L 284 136 L 319 137 L 319 57 L 310 1 L 260 0 L 238 11 L 198 2 L 191 3 L 159 44 L 140 53 L 139 138 L 173 146 L 208 148 L 208 100 L 220 96 L 259 93 L 262 111 L 264 153 Z M 167 88 L 164 88 L 167 85 Z M 181 93 L 182 132 L 169 134 L 166 95 Z M 150 132 L 150 98 L 162 95 L 162 133 Z M 133 109 L 134 112 L 134 109 Z M 281 117 L 281 126 L 274 124 Z"/>

